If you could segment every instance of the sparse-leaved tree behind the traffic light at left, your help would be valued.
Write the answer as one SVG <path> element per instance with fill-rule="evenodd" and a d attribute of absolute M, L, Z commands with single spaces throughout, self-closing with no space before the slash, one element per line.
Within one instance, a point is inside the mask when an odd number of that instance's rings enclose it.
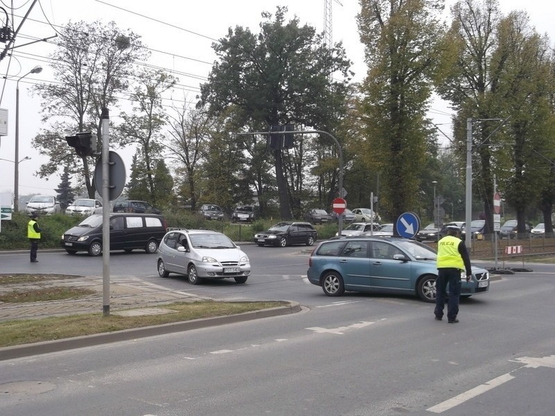
<path fill-rule="evenodd" d="M 49 61 L 58 82 L 35 87 L 42 98 L 46 127 L 33 139 L 33 146 L 49 159 L 40 166 L 40 177 L 69 164 L 71 173 L 87 187 L 89 198 L 94 198 L 94 158 L 75 155 L 64 137 L 92 131 L 101 146 L 101 110 L 117 104 L 117 95 L 128 88 L 134 62 L 146 56 L 139 36 L 121 31 L 114 22 L 70 22 L 60 29 L 58 48 Z"/>

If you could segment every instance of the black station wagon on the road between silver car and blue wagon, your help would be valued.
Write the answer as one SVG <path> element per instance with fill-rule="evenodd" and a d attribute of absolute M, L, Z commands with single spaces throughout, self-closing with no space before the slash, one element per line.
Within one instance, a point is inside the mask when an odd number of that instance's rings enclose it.
<path fill-rule="evenodd" d="M 273 225 L 267 231 L 255 234 L 253 241 L 260 247 L 263 245 L 285 247 L 291 244 L 314 245 L 316 239 L 318 239 L 318 232 L 311 223 L 282 221 Z"/>

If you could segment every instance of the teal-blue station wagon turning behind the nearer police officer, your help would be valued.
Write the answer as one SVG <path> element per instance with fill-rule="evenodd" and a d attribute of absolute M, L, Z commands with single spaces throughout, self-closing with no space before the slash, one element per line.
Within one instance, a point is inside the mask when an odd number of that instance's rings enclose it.
<path fill-rule="evenodd" d="M 336 237 L 320 243 L 309 258 L 311 284 L 328 296 L 345 291 L 417 295 L 436 300 L 436 251 L 400 237 Z M 461 296 L 486 293 L 488 270 L 472 266 L 472 279 L 461 279 Z"/>

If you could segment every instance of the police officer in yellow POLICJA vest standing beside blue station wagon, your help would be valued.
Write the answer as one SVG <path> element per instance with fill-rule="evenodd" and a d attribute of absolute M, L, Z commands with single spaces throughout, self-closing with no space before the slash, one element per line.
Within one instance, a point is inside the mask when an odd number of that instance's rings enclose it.
<path fill-rule="evenodd" d="M 447 235 L 438 242 L 438 279 L 436 281 L 436 320 L 442 320 L 447 284 L 449 299 L 447 300 L 447 322 L 456 324 L 459 320 L 459 297 L 461 297 L 461 273 L 466 273 L 466 281 L 472 278 L 470 256 L 464 242 L 458 238 L 461 229 L 456 225 L 447 226 Z"/>

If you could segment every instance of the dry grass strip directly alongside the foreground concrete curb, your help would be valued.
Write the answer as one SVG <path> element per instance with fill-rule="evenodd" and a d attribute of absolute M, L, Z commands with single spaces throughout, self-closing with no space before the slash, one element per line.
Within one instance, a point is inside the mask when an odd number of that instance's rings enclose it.
<path fill-rule="evenodd" d="M 102 313 L 87 313 L 33 320 L 12 320 L 0 322 L 0 347 L 39 343 L 41 341 L 72 338 L 121 331 L 123 329 L 149 327 L 199 318 L 235 315 L 250 311 L 285 306 L 287 302 L 176 302 L 164 304 L 164 309 L 174 313 L 139 316 L 104 316 Z"/>

